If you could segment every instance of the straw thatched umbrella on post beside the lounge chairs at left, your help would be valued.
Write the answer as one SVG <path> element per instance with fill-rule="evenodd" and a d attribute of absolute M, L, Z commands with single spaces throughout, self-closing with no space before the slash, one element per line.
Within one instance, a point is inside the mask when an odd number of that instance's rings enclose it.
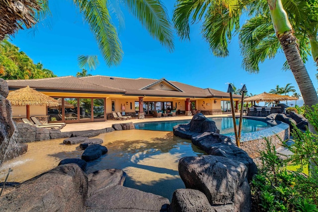
<path fill-rule="evenodd" d="M 30 119 L 30 105 L 55 107 L 59 102 L 35 89 L 26 86 L 24 88 L 9 92 L 6 97 L 13 106 L 26 106 L 26 118 Z"/>

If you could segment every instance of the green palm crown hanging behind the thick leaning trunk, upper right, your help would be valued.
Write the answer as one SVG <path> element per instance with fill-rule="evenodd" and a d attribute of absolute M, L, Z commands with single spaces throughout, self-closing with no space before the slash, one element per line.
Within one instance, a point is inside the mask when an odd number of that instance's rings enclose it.
<path fill-rule="evenodd" d="M 317 61 L 318 45 L 317 37 L 314 35 L 317 35 L 318 17 L 317 13 L 312 11 L 317 10 L 318 2 L 307 0 L 296 0 L 294 3 L 288 0 L 282 1 L 286 11 L 288 11 L 288 17 L 293 28 L 297 29 L 295 36 L 298 39 L 299 50 L 304 63 L 308 61 L 311 50 L 314 60 Z M 267 4 L 265 1 L 259 2 L 258 6 Z M 249 72 L 258 72 L 259 64 L 268 58 L 274 58 L 281 49 L 281 45 L 276 38 L 267 5 L 262 5 L 262 9 L 251 9 L 249 15 L 251 16 L 250 19 L 245 21 L 239 31 L 239 43 L 243 56 L 242 67 Z M 285 62 L 283 69 L 289 69 L 287 62 Z"/>

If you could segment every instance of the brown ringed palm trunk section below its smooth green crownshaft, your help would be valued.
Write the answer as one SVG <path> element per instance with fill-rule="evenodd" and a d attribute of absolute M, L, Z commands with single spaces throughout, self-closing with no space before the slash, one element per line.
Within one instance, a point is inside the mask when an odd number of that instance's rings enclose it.
<path fill-rule="evenodd" d="M 293 35 L 292 31 L 289 31 L 285 32 L 284 35 L 281 35 L 279 41 L 283 47 L 286 59 L 294 74 L 305 104 L 308 106 L 318 104 L 318 96 L 300 56 L 296 37 Z"/>

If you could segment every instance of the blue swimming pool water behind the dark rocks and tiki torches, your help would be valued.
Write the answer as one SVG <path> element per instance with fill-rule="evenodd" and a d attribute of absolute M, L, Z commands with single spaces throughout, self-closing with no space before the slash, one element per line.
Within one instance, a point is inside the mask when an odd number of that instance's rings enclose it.
<path fill-rule="evenodd" d="M 220 118 L 208 118 L 213 120 L 220 130 L 220 134 L 234 135 L 233 118 L 232 117 L 220 117 Z M 148 122 L 135 124 L 136 129 L 140 130 L 154 130 L 154 131 L 172 131 L 173 127 L 179 124 L 188 124 L 188 121 L 170 121 L 170 122 Z M 239 129 L 239 119 L 236 119 L 237 127 Z M 264 130 L 272 127 L 272 125 L 262 122 L 260 120 L 242 119 L 242 133 L 250 133 L 259 130 Z"/>

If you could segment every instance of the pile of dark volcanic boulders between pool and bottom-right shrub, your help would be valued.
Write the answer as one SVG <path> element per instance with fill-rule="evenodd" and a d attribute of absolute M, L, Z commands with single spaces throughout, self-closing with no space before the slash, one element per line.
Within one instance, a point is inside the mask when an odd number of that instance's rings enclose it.
<path fill-rule="evenodd" d="M 186 189 L 174 192 L 169 210 L 250 212 L 248 182 L 257 173 L 257 167 L 231 138 L 216 133 L 218 129 L 211 127 L 210 132 L 204 132 L 204 118 L 196 114 L 190 124 L 173 128 L 174 135 L 191 138 L 194 145 L 209 155 L 180 159 L 179 175 Z"/>

